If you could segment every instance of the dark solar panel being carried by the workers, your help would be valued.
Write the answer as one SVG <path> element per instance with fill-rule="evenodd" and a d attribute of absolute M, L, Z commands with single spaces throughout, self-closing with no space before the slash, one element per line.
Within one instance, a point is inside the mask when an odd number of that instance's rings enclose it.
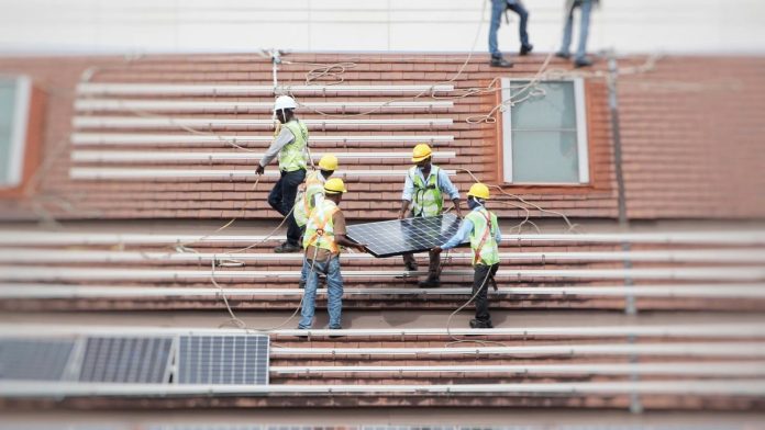
<path fill-rule="evenodd" d="M 357 244 L 366 244 L 375 257 L 392 257 L 426 251 L 443 245 L 458 229 L 457 216 L 445 214 L 426 218 L 356 224 L 347 227 L 347 236 Z"/>

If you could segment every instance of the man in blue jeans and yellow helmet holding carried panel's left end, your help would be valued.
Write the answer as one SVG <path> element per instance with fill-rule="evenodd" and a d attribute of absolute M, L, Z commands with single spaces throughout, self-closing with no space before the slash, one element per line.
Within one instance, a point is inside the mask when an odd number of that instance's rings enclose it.
<path fill-rule="evenodd" d="M 326 275 L 329 328 L 343 328 L 341 325 L 343 278 L 340 274 L 340 247 L 351 247 L 366 252 L 366 245 L 355 244 L 345 237 L 345 217 L 339 205 L 346 191 L 342 179 L 329 179 L 324 183 L 324 199 L 308 217 L 303 236 L 306 247 L 303 271 L 308 273 L 308 278 L 299 329 L 309 329 L 313 325 L 319 273 Z"/>

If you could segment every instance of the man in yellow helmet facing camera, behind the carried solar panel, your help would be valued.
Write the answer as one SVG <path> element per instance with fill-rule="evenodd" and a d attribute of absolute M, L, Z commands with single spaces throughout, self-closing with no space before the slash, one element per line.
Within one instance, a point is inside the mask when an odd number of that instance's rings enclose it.
<path fill-rule="evenodd" d="M 454 212 L 462 218 L 459 210 L 459 191 L 452 184 L 448 174 L 432 163 L 433 151 L 426 144 L 419 144 L 412 151 L 412 162 L 414 167 L 409 169 L 407 179 L 403 183 L 403 194 L 401 196 L 401 208 L 398 218 L 403 219 L 407 215 L 412 217 L 439 216 L 443 212 L 445 192 L 454 204 Z M 411 211 L 410 211 L 411 208 Z M 421 288 L 433 288 L 441 286 L 439 256 L 430 253 L 430 265 L 428 279 L 421 281 L 418 286 Z M 414 256 L 403 254 L 403 263 L 408 271 L 417 270 Z"/>

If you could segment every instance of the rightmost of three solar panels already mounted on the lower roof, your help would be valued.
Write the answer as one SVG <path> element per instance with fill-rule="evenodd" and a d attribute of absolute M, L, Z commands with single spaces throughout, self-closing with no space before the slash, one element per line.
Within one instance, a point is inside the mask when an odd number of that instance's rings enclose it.
<path fill-rule="evenodd" d="M 268 336 L 181 336 L 179 384 L 268 384 Z"/>

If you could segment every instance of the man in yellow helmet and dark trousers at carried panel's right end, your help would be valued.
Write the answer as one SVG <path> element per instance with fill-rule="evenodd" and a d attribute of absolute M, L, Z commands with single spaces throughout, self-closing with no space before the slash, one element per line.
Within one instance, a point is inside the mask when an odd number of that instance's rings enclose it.
<path fill-rule="evenodd" d="M 498 244 L 502 233 L 497 224 L 497 215 L 486 208 L 489 200 L 489 189 L 483 183 L 474 183 L 467 193 L 467 207 L 470 212 L 465 216 L 457 233 L 448 241 L 431 251 L 436 256 L 444 249 L 452 249 L 465 241 L 469 236 L 473 249 L 473 295 L 476 302 L 476 318 L 470 320 L 470 328 L 492 328 L 489 315 L 488 287 L 495 285 L 494 276 L 499 269 Z"/>

